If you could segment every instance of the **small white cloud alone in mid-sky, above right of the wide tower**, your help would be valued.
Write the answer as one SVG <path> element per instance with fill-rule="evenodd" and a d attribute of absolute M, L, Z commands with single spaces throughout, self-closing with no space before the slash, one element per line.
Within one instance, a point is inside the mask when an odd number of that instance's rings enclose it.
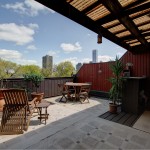
<path fill-rule="evenodd" d="M 81 52 L 82 51 L 82 47 L 80 46 L 79 42 L 76 42 L 75 44 L 70 44 L 70 43 L 62 43 L 60 45 L 60 47 L 64 50 L 64 52 L 66 53 L 70 53 L 70 52 Z"/>

